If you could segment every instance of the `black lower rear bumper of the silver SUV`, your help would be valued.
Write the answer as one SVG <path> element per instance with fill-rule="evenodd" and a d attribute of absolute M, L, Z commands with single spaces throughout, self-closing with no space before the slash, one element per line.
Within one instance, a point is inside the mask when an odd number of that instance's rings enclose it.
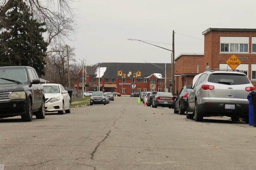
<path fill-rule="evenodd" d="M 231 104 L 231 103 L 229 103 Z M 234 104 L 234 103 L 233 103 Z M 198 112 L 203 116 L 240 116 L 249 115 L 249 104 L 234 104 L 235 109 L 225 109 L 224 103 L 206 102 L 198 105 Z"/>

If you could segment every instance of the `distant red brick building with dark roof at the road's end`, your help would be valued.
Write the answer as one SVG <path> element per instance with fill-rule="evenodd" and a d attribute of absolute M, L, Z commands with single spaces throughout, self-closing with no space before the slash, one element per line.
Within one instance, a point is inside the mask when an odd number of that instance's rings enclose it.
<path fill-rule="evenodd" d="M 86 72 L 84 69 L 84 84 L 88 84 L 86 91 L 97 91 L 100 87 L 104 92 L 127 95 L 144 91 L 164 92 L 166 80 L 166 91 L 170 92 L 170 70 L 170 63 L 97 63 L 87 66 Z M 120 71 L 121 75 L 118 74 Z M 78 75 L 74 88 L 82 89 L 82 68 Z"/>

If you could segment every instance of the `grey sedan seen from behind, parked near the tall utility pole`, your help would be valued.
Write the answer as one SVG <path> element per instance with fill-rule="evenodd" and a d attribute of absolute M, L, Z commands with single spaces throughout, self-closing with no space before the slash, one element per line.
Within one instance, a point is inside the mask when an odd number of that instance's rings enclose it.
<path fill-rule="evenodd" d="M 170 92 L 157 92 L 152 99 L 152 107 L 173 107 L 173 95 Z"/>

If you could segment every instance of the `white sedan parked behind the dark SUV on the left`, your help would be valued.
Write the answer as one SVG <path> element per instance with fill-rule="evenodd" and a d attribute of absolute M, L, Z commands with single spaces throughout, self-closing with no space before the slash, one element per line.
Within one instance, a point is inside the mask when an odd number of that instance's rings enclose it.
<path fill-rule="evenodd" d="M 44 86 L 45 111 L 70 113 L 71 99 L 68 91 L 61 84 L 42 84 Z"/>

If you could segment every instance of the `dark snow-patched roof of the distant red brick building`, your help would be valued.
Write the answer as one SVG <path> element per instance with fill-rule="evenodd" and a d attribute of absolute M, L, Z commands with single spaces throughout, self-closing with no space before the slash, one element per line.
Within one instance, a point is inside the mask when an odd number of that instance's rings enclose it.
<path fill-rule="evenodd" d="M 160 66 L 158 68 L 155 65 Z M 126 74 L 126 78 L 133 78 L 133 74 L 140 71 L 141 78 L 146 78 L 151 74 L 162 74 L 162 78 L 165 75 L 165 63 L 97 63 L 93 66 L 87 66 L 86 72 L 88 75 L 92 75 L 91 78 L 98 78 L 98 68 L 100 67 L 100 78 L 121 78 L 118 76 L 118 71 Z M 166 63 L 166 74 L 170 70 L 171 64 Z M 88 70 L 90 69 L 90 71 Z M 94 72 L 93 72 L 94 71 Z M 93 73 L 92 73 L 93 72 Z M 129 72 L 131 74 L 129 74 Z"/>

